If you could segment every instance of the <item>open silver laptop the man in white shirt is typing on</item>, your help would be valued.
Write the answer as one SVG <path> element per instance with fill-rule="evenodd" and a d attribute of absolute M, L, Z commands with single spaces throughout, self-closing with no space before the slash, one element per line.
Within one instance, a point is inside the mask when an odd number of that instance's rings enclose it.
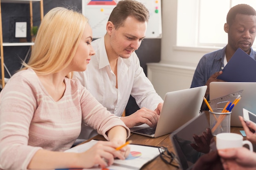
<path fill-rule="evenodd" d="M 148 137 L 159 137 L 173 132 L 200 113 L 207 86 L 166 93 L 156 128 L 143 124 L 130 128 L 131 132 Z"/>

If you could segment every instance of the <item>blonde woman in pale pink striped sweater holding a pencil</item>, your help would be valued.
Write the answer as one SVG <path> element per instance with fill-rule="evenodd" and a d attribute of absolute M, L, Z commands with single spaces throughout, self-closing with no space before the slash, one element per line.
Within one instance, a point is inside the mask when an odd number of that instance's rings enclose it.
<path fill-rule="evenodd" d="M 92 29 L 76 11 L 57 7 L 42 20 L 31 58 L 0 93 L 0 169 L 106 167 L 125 159 L 129 148 L 115 150 L 129 129 L 71 79 L 85 71 L 94 55 Z M 88 124 L 109 141 L 83 153 L 63 152 Z"/>

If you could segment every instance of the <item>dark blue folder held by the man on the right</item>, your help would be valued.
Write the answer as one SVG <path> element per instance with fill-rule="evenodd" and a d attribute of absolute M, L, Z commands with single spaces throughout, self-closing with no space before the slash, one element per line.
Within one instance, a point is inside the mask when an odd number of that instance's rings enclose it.
<path fill-rule="evenodd" d="M 217 79 L 226 82 L 256 82 L 256 61 L 240 48 L 222 71 Z"/>

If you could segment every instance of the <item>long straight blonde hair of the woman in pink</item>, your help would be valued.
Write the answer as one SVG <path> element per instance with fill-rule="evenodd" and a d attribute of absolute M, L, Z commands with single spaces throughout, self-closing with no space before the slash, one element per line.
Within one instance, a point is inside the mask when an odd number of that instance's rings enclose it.
<path fill-rule="evenodd" d="M 39 75 L 56 73 L 69 66 L 81 40 L 88 19 L 77 11 L 56 7 L 43 18 L 29 62 Z M 69 73 L 67 77 L 72 77 Z"/>

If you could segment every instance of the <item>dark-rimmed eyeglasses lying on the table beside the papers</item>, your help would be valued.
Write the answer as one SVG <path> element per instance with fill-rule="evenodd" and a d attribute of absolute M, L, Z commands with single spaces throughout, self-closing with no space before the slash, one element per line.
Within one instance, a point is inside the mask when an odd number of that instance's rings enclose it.
<path fill-rule="evenodd" d="M 158 148 L 158 150 L 160 152 L 160 158 L 162 161 L 164 161 L 164 163 L 174 166 L 175 168 L 180 168 L 179 159 L 173 152 L 169 152 L 168 149 L 164 146 L 161 146 Z"/>

